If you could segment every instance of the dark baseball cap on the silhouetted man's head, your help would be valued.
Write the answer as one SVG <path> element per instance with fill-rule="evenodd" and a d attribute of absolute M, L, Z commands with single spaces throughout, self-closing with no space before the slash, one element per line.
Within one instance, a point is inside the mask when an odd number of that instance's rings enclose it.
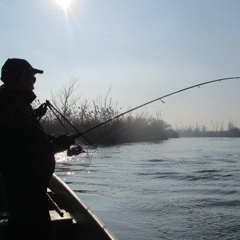
<path fill-rule="evenodd" d="M 17 76 L 23 72 L 43 73 L 43 70 L 33 68 L 25 59 L 9 58 L 2 66 L 1 80 L 8 81 L 9 78 Z"/>

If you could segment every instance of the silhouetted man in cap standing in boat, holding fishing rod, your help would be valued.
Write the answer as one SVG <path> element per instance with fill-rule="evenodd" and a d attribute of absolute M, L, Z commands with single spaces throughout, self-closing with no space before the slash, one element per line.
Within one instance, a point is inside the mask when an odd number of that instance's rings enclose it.
<path fill-rule="evenodd" d="M 35 74 L 24 59 L 8 59 L 2 67 L 0 88 L 0 173 L 7 192 L 8 240 L 49 240 L 51 221 L 46 191 L 55 168 L 54 154 L 67 150 L 74 140 L 51 137 L 41 128 L 31 103 Z"/>

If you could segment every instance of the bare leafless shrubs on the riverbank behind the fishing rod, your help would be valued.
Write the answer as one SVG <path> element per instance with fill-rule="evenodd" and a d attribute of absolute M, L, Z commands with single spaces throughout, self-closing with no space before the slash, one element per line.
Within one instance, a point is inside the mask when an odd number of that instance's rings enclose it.
<path fill-rule="evenodd" d="M 97 100 L 92 101 L 91 105 L 87 100 L 79 103 L 80 97 L 72 100 L 72 94 L 76 89 L 75 85 L 76 80 L 73 80 L 57 96 L 52 94 L 53 103 L 63 117 L 58 115 L 57 119 L 52 111 L 48 111 L 41 124 L 49 134 L 76 133 L 67 124 L 66 119 L 70 120 L 78 131 L 84 132 L 120 114 L 117 105 L 114 107 L 112 99 L 109 98 L 110 88 L 105 98 L 98 97 Z M 160 141 L 168 138 L 168 132 L 174 135 L 170 125 L 158 115 L 157 117 L 148 117 L 144 114 L 140 116 L 127 114 L 86 133 L 84 136 L 94 144 L 117 144 Z M 175 136 L 177 135 L 175 134 Z"/>

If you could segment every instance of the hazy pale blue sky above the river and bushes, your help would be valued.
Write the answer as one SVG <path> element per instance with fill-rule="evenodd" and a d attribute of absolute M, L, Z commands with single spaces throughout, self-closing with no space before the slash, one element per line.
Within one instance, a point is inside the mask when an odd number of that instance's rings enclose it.
<path fill-rule="evenodd" d="M 51 100 L 72 78 L 75 95 L 123 111 L 197 83 L 240 76 L 239 0 L 1 0 L 1 66 L 43 69 L 35 93 Z M 195 88 L 141 109 L 172 127 L 240 127 L 240 79 Z"/>

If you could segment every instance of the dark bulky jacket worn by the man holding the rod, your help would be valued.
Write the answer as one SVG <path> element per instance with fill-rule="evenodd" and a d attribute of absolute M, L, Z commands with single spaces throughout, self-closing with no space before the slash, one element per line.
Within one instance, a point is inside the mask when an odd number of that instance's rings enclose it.
<path fill-rule="evenodd" d="M 33 92 L 0 89 L 0 171 L 8 191 L 20 195 L 46 189 L 55 167 L 47 135 L 31 107 L 35 98 Z"/>

